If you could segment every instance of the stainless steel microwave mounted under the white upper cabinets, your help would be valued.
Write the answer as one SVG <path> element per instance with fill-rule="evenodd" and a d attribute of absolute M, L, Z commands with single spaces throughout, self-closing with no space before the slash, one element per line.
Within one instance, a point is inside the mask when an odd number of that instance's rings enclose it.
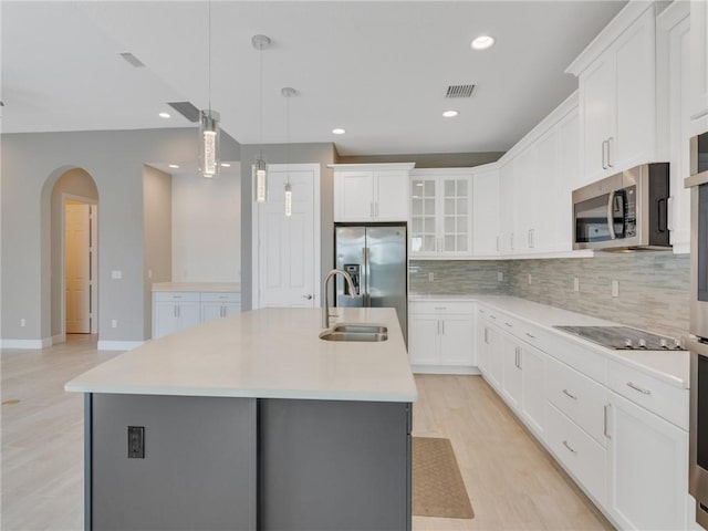
<path fill-rule="evenodd" d="M 636 166 L 573 190 L 573 249 L 667 250 L 668 163 Z"/>

